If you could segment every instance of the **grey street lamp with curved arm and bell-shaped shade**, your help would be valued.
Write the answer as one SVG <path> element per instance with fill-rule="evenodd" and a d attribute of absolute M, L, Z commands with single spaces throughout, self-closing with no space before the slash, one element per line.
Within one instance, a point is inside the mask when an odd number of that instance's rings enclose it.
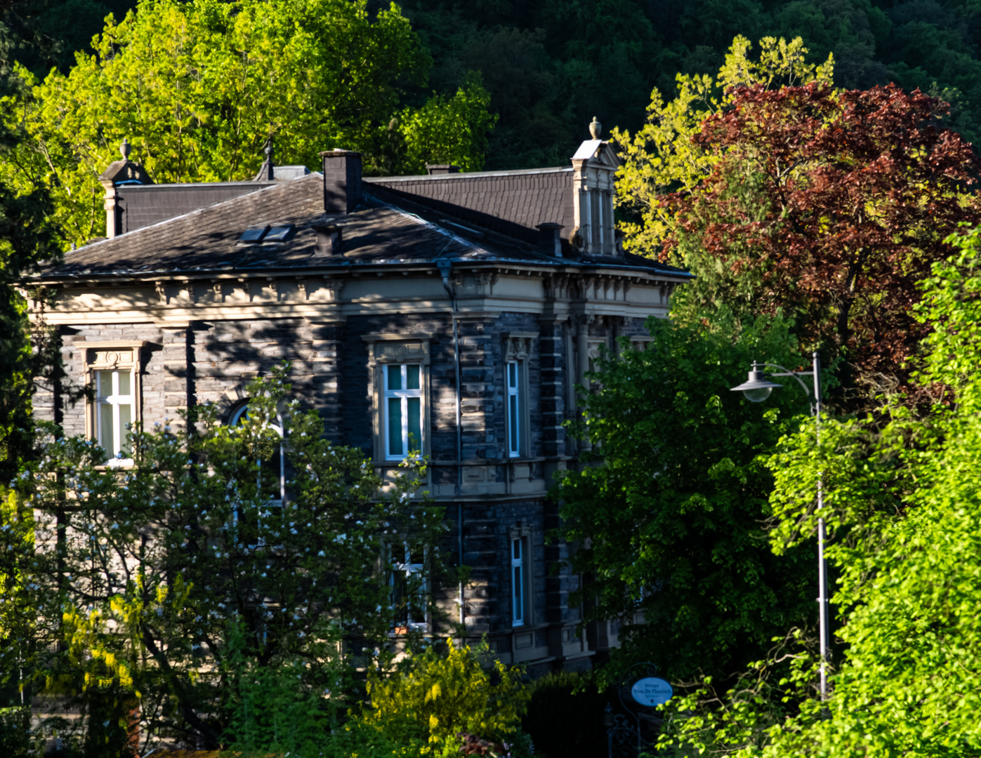
<path fill-rule="evenodd" d="M 793 377 L 803 387 L 804 394 L 810 395 L 807 385 L 800 379 L 810 375 L 814 379 L 814 400 L 810 410 L 814 415 L 814 437 L 816 442 L 821 441 L 821 356 L 814 351 L 812 354 L 810 371 L 790 371 L 783 366 L 775 363 L 752 362 L 752 369 L 749 370 L 749 379 L 739 386 L 733 387 L 733 391 L 741 391 L 746 399 L 753 403 L 761 403 L 770 396 L 776 387 L 783 386 L 767 379 L 766 374 L 761 368 L 768 367 L 779 369 L 780 373 L 769 374 L 770 377 Z M 824 560 L 824 519 L 821 517 L 821 509 L 824 507 L 824 497 L 821 492 L 821 479 L 817 480 L 817 583 L 818 583 L 818 635 L 820 636 L 821 646 L 821 700 L 828 699 L 828 677 L 827 664 L 829 660 L 829 635 L 828 635 L 828 564 Z"/>

